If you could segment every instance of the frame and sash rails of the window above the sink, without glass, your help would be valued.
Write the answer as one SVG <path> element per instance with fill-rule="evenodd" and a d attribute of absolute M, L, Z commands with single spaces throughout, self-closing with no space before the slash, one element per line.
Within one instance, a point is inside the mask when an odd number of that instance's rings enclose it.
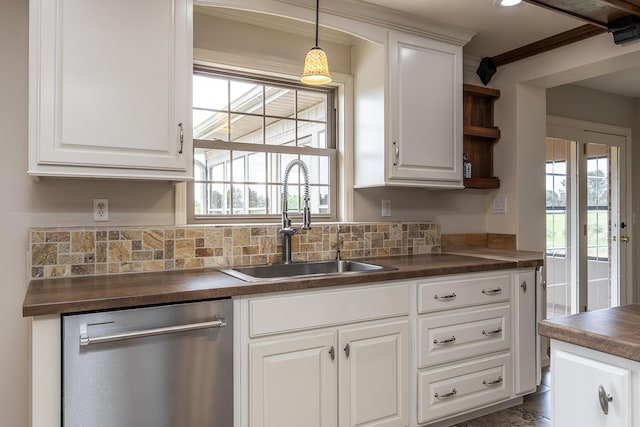
<path fill-rule="evenodd" d="M 299 83 L 293 79 L 287 78 L 275 78 L 268 74 L 261 74 L 259 71 L 247 71 L 238 72 L 230 71 L 224 68 L 218 68 L 215 66 L 199 65 L 195 64 L 193 67 L 192 75 L 215 75 L 229 79 L 247 80 L 250 82 L 257 82 L 259 84 L 280 86 L 285 88 L 302 89 L 304 91 L 318 91 L 327 93 L 327 119 L 326 119 L 326 142 L 327 148 L 314 148 L 308 146 L 285 146 L 285 145 L 270 145 L 270 144 L 252 144 L 245 142 L 226 142 L 226 141 L 212 141 L 193 139 L 193 150 L 198 148 L 207 149 L 220 149 L 233 151 L 245 151 L 245 152 L 263 152 L 263 153 L 276 153 L 276 154 L 289 154 L 289 155 L 322 155 L 326 156 L 329 160 L 329 203 L 331 206 L 331 212 L 329 214 L 313 214 L 313 220 L 316 222 L 335 222 L 338 220 L 340 207 L 340 197 L 338 192 L 339 186 L 339 159 L 338 159 L 338 145 L 339 135 L 337 134 L 337 117 L 338 117 L 338 96 L 339 91 L 337 87 L 322 86 L 315 88 L 313 86 L 307 86 Z M 268 115 L 266 115 L 268 117 Z M 233 159 L 232 159 L 233 160 Z M 234 224 L 234 223 L 277 223 L 281 220 L 280 209 L 277 208 L 277 213 L 271 214 L 222 214 L 222 215 L 201 215 L 195 214 L 195 156 L 194 163 L 194 180 L 189 181 L 186 187 L 186 222 L 188 224 Z M 269 178 L 265 180 L 265 184 L 272 183 Z M 324 186 L 324 185 L 323 185 Z M 299 216 L 295 210 L 291 211 L 291 217 L 296 220 Z"/>

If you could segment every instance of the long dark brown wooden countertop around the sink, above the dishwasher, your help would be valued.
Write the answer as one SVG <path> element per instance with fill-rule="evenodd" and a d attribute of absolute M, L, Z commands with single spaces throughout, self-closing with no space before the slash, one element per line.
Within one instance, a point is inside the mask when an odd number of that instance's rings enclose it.
<path fill-rule="evenodd" d="M 213 268 L 37 279 L 29 283 L 22 313 L 25 317 L 75 313 L 542 265 L 540 253 L 525 256 L 512 252 L 512 255 L 508 258 L 503 254 L 499 259 L 456 254 L 367 258 L 358 261 L 397 270 L 250 283 Z"/>

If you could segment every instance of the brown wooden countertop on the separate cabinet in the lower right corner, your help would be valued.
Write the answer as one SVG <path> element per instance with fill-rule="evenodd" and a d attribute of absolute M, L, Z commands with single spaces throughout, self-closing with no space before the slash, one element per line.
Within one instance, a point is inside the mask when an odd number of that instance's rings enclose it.
<path fill-rule="evenodd" d="M 640 362 L 640 304 L 542 320 L 538 333 Z"/>

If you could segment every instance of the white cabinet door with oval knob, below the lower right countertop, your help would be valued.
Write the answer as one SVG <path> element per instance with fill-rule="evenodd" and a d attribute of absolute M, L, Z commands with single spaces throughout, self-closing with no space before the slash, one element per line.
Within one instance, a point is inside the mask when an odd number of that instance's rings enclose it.
<path fill-rule="evenodd" d="M 551 366 L 554 427 L 631 426 L 637 401 L 632 399 L 629 369 L 562 350 L 553 350 Z"/>

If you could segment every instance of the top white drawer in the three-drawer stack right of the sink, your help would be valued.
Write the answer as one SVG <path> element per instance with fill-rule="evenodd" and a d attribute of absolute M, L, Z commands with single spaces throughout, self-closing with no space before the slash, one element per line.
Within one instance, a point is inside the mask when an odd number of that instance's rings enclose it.
<path fill-rule="evenodd" d="M 466 275 L 418 283 L 418 313 L 508 301 L 509 273 Z"/>

